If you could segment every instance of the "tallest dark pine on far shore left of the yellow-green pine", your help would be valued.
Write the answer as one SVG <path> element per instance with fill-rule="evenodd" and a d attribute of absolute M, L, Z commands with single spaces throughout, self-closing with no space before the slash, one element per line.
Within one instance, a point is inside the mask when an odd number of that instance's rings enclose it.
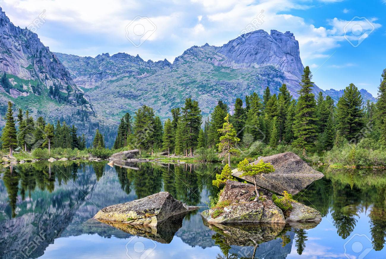
<path fill-rule="evenodd" d="M 201 126 L 201 110 L 198 102 L 190 98 L 185 100 L 185 107 L 182 108 L 181 120 L 186 124 L 186 145 L 193 157 L 193 149 L 197 147 L 198 132 Z"/>

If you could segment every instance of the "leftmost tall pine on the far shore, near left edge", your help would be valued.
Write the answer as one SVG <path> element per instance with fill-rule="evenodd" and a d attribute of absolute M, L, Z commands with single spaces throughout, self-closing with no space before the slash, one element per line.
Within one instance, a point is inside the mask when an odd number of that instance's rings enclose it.
<path fill-rule="evenodd" d="M 5 115 L 5 127 L 3 128 L 1 140 L 3 148 L 9 149 L 9 155 L 12 155 L 12 151 L 17 146 L 17 135 L 15 128 L 14 112 L 12 111 L 12 102 L 8 102 L 8 110 Z"/>

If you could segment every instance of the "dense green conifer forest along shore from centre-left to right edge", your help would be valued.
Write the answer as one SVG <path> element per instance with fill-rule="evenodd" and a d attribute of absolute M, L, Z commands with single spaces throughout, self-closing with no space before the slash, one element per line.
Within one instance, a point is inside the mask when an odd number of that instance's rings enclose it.
<path fill-rule="evenodd" d="M 337 104 L 320 92 L 315 98 L 309 67 L 302 75 L 298 100 L 293 99 L 285 84 L 278 95 L 269 87 L 261 97 L 256 93 L 237 98 L 229 121 L 240 139 L 241 148 L 260 141 L 271 148 L 289 145 L 306 152 L 330 150 L 343 142 L 356 143 L 372 138 L 386 145 L 386 69 L 379 86 L 378 102 L 363 104 L 354 84 L 344 89 Z M 196 100 L 187 98 L 184 107 L 171 110 L 172 119 L 162 125 L 154 110 L 146 105 L 134 117 L 125 114 L 118 129 L 114 148 L 139 148 L 153 153 L 155 149 L 169 154 L 192 156 L 200 148 L 217 149 L 222 136 L 227 104 L 218 101 L 212 114 L 201 124 L 201 110 Z"/>

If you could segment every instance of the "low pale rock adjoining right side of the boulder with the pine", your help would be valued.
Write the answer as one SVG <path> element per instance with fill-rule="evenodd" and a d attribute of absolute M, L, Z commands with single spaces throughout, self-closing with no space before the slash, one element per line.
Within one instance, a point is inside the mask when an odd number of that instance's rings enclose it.
<path fill-rule="evenodd" d="M 289 217 L 286 218 L 286 222 L 320 222 L 322 220 L 322 214 L 312 207 L 308 207 L 300 202 L 291 202 L 291 205 L 292 210 Z"/>

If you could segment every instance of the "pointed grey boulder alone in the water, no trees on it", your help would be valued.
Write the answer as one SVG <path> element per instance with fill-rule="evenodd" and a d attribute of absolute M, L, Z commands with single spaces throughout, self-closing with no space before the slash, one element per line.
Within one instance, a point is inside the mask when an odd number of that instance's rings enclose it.
<path fill-rule="evenodd" d="M 94 218 L 103 221 L 123 222 L 133 225 L 157 226 L 171 216 L 196 210 L 174 199 L 169 192 L 158 192 L 139 200 L 105 207 Z"/>

